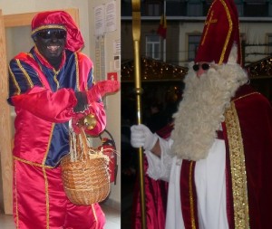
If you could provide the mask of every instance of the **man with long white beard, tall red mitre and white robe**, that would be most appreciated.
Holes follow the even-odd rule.
[[[131,127],[147,174],[169,182],[162,227],[271,228],[272,108],[241,67],[233,0],[212,2],[185,84],[169,140]]]

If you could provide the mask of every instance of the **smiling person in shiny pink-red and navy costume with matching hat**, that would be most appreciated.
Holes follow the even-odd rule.
[[[97,136],[106,125],[101,101],[118,81],[92,76],[92,61],[80,50],[83,36],[70,14],[50,11],[32,22],[34,47],[9,65],[8,102],[15,106],[14,217],[16,228],[103,228],[99,204],[73,205],[65,196],[60,160],[69,153],[68,122],[92,115],[85,129]]]

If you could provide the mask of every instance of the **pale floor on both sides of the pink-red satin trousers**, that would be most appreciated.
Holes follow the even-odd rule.
[[[110,205],[106,205],[106,204],[102,205],[102,209],[106,215],[106,220],[107,220],[104,229],[120,229],[121,228],[120,210],[116,210],[115,208],[112,208]],[[1,229],[15,229],[13,216],[0,214],[0,228]]]

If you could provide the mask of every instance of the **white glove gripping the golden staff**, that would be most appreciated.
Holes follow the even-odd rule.
[[[158,140],[158,135],[153,134],[145,125],[131,126],[131,146],[133,148],[143,147],[145,150],[151,150]]]

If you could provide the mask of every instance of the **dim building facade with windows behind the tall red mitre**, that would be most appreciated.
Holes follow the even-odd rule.
[[[141,0],[141,55],[186,67],[194,60],[212,0]],[[272,52],[272,1],[235,0],[244,64]],[[165,14],[166,39],[157,33]],[[133,59],[131,0],[121,1],[121,58]]]

